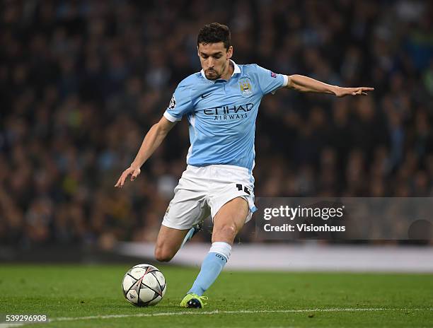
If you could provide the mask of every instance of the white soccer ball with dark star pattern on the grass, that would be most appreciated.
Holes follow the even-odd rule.
[[[156,305],[166,293],[167,284],[163,274],[155,266],[137,264],[123,277],[122,290],[132,305]]]

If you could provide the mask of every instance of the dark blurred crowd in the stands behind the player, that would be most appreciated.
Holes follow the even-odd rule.
[[[359,98],[289,90],[265,97],[256,197],[432,196],[431,1],[26,0],[2,7],[0,244],[110,248],[117,240],[156,240],[186,166],[186,120],[135,182],[114,185],[177,84],[200,71],[197,31],[214,21],[231,28],[238,64],[375,88]]]

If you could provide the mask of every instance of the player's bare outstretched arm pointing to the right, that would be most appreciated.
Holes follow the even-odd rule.
[[[345,95],[367,95],[368,91],[374,90],[374,88],[365,86],[356,88],[331,86],[330,84],[317,81],[314,78],[298,74],[287,76],[287,88],[301,92],[330,93],[337,97],[344,97]]]

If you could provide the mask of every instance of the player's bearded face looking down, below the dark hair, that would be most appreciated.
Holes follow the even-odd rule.
[[[197,47],[200,64],[204,75],[209,80],[217,80],[229,69],[229,59],[233,54],[233,47],[226,49],[223,42],[200,43]]]

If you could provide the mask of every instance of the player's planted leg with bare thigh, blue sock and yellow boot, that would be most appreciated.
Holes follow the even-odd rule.
[[[231,199],[214,216],[212,247],[204,258],[200,273],[180,306],[202,307],[203,293],[217,279],[231,254],[231,245],[243,227],[249,213],[248,202],[243,197]]]

